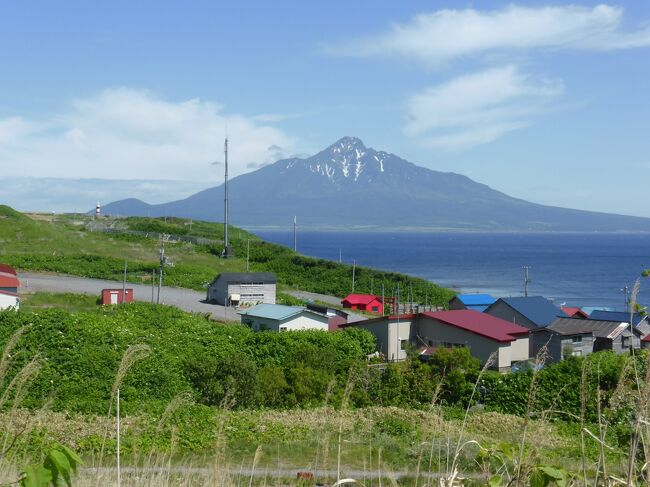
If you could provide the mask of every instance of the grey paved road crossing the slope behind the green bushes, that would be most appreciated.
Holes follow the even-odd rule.
[[[50,293],[75,293],[92,294],[99,296],[104,288],[122,288],[120,281],[104,281],[101,279],[89,279],[85,277],[67,276],[62,274],[41,274],[33,272],[20,272],[20,291],[36,292],[46,291]],[[127,283],[127,287],[133,289],[136,301],[151,302],[151,286],[144,284]],[[216,304],[202,302],[205,293],[181,289],[176,287],[163,287],[160,291],[160,302],[176,306],[184,311],[193,313],[207,313],[214,320],[218,321],[239,321],[239,315],[233,308],[225,308]]]

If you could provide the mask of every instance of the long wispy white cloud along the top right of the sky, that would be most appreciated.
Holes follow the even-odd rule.
[[[337,55],[400,56],[438,65],[492,52],[532,49],[613,50],[650,46],[650,27],[621,29],[621,7],[508,6],[501,10],[438,10],[384,33],[329,47]]]

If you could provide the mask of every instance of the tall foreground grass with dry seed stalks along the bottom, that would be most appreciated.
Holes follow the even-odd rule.
[[[118,485],[113,406],[106,416],[19,407],[42,360],[36,356],[13,377],[7,376],[23,333],[21,329],[11,337],[0,357],[0,483],[15,483],[25,465],[41,462],[49,445],[58,442],[85,458],[73,485]],[[149,350],[142,346],[127,350],[108,391],[112,397],[131,365],[146,353]],[[355,410],[348,407],[347,398],[366,385],[357,371],[348,377],[337,408],[326,394],[325,403],[315,409],[241,411],[233,409],[234,394],[227,396],[206,426],[212,444],[200,453],[188,454],[191,445],[183,444],[186,436],[180,434],[192,421],[179,419],[194,411],[188,409],[190,396],[175,398],[159,418],[123,418],[128,453],[123,456],[120,485],[252,487],[347,481],[375,487],[649,485],[650,364],[641,371],[634,359],[631,355],[623,368],[613,399],[620,401],[621,411],[615,413],[629,419],[626,443],[611,433],[611,412],[599,411],[595,424],[586,423],[584,415],[572,418],[571,431],[563,432],[565,423],[557,422],[562,411],[539,410],[536,380],[523,417],[484,412],[476,406],[455,411],[439,403],[440,387],[426,410],[380,406]],[[538,365],[543,360],[542,354]],[[587,360],[598,364],[599,355]],[[583,376],[587,370],[598,367],[585,365]],[[587,377],[582,379],[584,404],[589,391],[584,385]],[[633,407],[625,411],[630,404]],[[101,442],[93,443],[92,438]],[[309,475],[299,480],[299,471],[313,474],[314,480]]]

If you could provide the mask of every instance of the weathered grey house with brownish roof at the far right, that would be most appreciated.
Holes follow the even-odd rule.
[[[618,321],[558,318],[546,328],[531,330],[531,351],[535,355],[546,345],[548,362],[558,362],[570,355],[582,356],[601,350],[621,353],[630,346],[641,346],[641,333],[630,324]]]

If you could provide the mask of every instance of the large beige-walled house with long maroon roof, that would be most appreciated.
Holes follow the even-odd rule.
[[[492,367],[507,371],[529,358],[527,328],[475,310],[435,311],[385,316],[350,323],[370,331],[387,360],[403,360],[409,344],[433,353],[438,347],[468,347],[482,363],[495,354]]]

